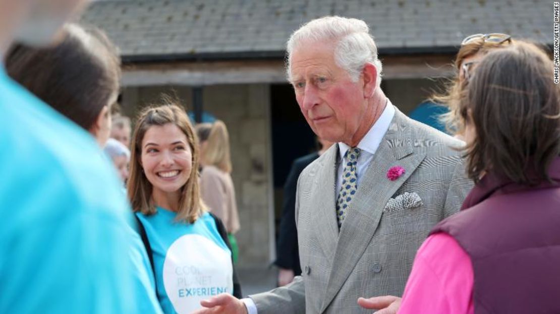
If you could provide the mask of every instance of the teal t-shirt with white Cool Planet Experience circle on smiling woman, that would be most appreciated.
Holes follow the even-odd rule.
[[[166,314],[190,313],[200,301],[233,293],[231,251],[214,218],[205,213],[195,223],[175,221],[175,213],[137,213],[152,249],[158,299]]]

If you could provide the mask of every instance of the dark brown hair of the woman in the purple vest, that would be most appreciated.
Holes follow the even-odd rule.
[[[461,101],[476,134],[466,147],[471,179],[487,171],[520,184],[549,179],[548,166],[560,152],[560,86],[553,68],[543,50],[521,41],[478,64]]]

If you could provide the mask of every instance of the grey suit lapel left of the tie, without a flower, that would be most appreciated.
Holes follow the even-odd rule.
[[[322,241],[321,248],[328,260],[333,260],[334,251],[338,242],[338,224],[335,205],[335,175],[338,157],[338,144],[333,145],[325,152],[315,178],[311,195],[312,208],[316,208],[313,228]],[[310,174],[312,175],[312,174]],[[314,205],[316,204],[316,205]]]

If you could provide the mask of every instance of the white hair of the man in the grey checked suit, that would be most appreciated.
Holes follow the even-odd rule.
[[[377,86],[381,83],[381,61],[377,58],[377,46],[366,22],[357,18],[325,16],[307,22],[290,36],[287,43],[286,74],[291,80],[291,55],[302,44],[333,41],[334,62],[348,72],[357,82],[367,64],[377,69]]]

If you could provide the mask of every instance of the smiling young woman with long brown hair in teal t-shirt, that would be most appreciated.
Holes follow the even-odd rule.
[[[241,296],[226,228],[200,197],[197,142],[175,104],[145,109],[132,137],[128,196],[165,313],[190,313],[218,293]]]

